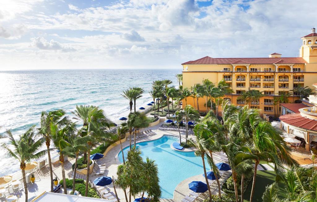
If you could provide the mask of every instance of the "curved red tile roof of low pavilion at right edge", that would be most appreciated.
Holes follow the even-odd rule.
[[[298,128],[317,131],[317,120],[303,117],[300,113],[282,115],[280,120]]]

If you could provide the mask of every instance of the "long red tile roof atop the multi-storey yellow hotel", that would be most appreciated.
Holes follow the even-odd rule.
[[[279,60],[287,61],[287,64],[305,64],[302,57],[251,57],[251,58],[212,58],[209,56],[194,61],[188,61],[183,64],[233,64],[238,61],[244,64],[274,64]]]

